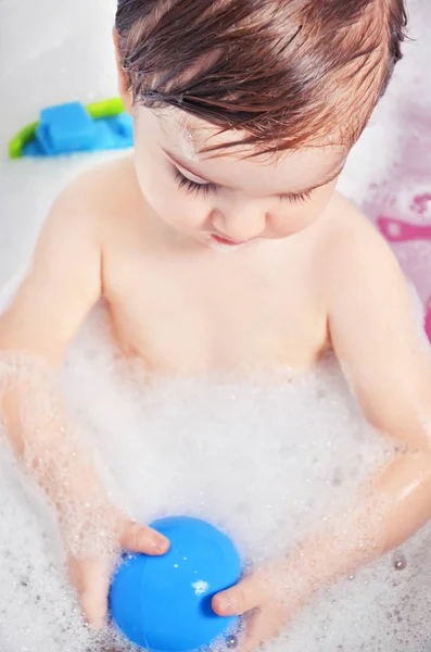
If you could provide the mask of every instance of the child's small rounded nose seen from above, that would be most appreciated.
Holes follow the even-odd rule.
[[[267,215],[262,206],[254,203],[241,203],[224,210],[214,209],[211,224],[226,238],[238,242],[246,242],[258,238],[265,231]]]

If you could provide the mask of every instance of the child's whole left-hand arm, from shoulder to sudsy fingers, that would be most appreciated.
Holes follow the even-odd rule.
[[[79,178],[56,201],[30,273],[0,318],[0,405],[12,448],[55,505],[72,581],[84,612],[99,625],[107,553],[122,546],[156,554],[167,546],[111,504],[56,381],[67,346],[101,292],[92,181],[91,174]],[[91,559],[97,552],[105,554]]]

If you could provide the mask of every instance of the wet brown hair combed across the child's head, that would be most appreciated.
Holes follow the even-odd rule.
[[[351,147],[406,24],[404,0],[118,0],[116,14],[136,103],[244,130],[261,152]]]

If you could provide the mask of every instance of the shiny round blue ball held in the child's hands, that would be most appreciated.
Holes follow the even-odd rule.
[[[170,541],[163,556],[127,554],[113,579],[113,620],[134,643],[154,652],[192,652],[230,632],[237,617],[217,616],[212,598],[237,584],[241,561],[230,539],[187,516],[151,527]]]

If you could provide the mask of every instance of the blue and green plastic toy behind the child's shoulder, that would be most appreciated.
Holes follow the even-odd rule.
[[[85,106],[71,102],[40,112],[38,123],[25,127],[9,143],[12,159],[58,156],[73,152],[124,149],[134,145],[134,123],[119,99]]]

